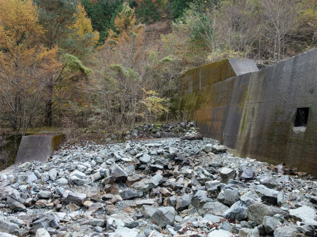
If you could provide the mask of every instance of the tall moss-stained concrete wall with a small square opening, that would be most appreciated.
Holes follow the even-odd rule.
[[[237,156],[285,162],[317,176],[317,49],[241,75],[235,72],[246,70],[227,65],[232,59],[223,61],[183,76],[188,81],[183,110],[198,121],[200,132]],[[203,75],[205,67],[221,73]],[[248,62],[246,69],[252,68]],[[294,127],[297,108],[303,107],[310,108],[307,125]]]

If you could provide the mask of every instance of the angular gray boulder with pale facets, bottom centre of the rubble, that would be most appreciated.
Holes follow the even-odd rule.
[[[160,207],[150,218],[151,222],[155,222],[160,227],[166,225],[173,226],[175,220],[175,209],[171,206]]]

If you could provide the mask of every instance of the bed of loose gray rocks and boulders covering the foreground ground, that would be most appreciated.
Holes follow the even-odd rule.
[[[0,237],[316,237],[315,180],[207,138],[65,142],[0,175]]]

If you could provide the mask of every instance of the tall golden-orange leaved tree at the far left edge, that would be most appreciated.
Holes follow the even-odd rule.
[[[42,36],[32,0],[0,0],[0,120],[15,138],[42,112],[47,84],[60,66],[57,48],[44,47]]]

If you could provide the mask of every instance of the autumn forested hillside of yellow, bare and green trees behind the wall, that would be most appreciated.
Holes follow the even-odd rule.
[[[317,0],[0,0],[2,133],[89,127],[108,137],[185,119],[177,76],[312,49],[316,10]]]

